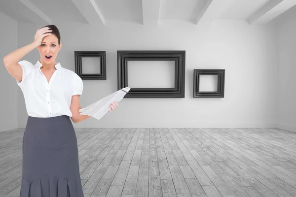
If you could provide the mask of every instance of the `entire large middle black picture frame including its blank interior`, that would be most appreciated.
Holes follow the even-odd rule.
[[[185,51],[117,51],[117,78],[125,98],[184,98]]]

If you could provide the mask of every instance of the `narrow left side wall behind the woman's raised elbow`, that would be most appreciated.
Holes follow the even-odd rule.
[[[0,131],[18,127],[17,85],[3,64],[3,58],[17,49],[17,22],[0,12]]]

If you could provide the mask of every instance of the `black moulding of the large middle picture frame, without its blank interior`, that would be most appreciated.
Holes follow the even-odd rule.
[[[174,88],[131,88],[124,98],[185,98],[185,51],[117,51],[117,87],[128,87],[128,61],[174,61]]]

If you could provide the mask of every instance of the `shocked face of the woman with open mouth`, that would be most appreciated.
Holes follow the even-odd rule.
[[[62,43],[58,43],[55,34],[43,37],[41,44],[37,47],[40,54],[40,62],[44,64],[55,64],[58,52],[61,50]]]

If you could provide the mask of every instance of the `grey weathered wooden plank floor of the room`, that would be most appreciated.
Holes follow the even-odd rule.
[[[85,197],[296,197],[296,132],[75,131]],[[23,132],[0,132],[0,197],[19,196]]]

